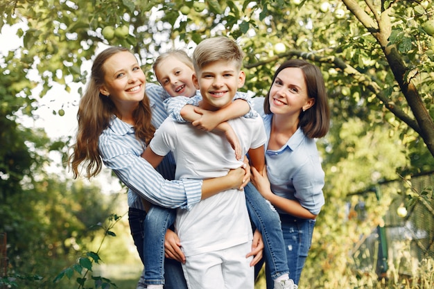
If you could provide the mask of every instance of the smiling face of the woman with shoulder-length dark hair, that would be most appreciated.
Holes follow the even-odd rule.
[[[297,117],[315,103],[314,98],[308,96],[304,73],[298,67],[288,67],[277,74],[268,100],[273,114]]]

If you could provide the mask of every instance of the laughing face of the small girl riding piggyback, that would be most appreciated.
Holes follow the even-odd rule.
[[[158,82],[170,96],[195,96],[193,73],[192,67],[187,66],[175,56],[168,56],[155,67]]]

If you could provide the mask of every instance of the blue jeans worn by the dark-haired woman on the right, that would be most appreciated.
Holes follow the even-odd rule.
[[[286,258],[288,259],[288,268],[290,279],[298,285],[300,275],[306,261],[307,254],[311,248],[313,227],[315,220],[295,218],[288,214],[280,214],[281,229],[284,232],[286,245]],[[267,289],[273,288],[270,272],[266,265]]]

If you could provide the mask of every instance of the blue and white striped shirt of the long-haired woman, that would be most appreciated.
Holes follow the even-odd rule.
[[[150,100],[152,123],[155,128],[166,119],[164,99],[170,97],[164,89],[152,83],[146,84],[146,95]],[[128,205],[144,209],[142,197],[162,207],[190,209],[202,198],[202,180],[173,179],[175,160],[168,155],[157,167],[151,166],[141,157],[146,144],[136,139],[134,128],[116,116],[98,140],[98,149],[107,168],[128,186]],[[161,173],[161,175],[160,175]],[[165,179],[166,178],[166,179]]]

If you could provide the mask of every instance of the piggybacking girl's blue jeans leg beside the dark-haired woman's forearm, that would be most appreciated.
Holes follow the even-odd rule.
[[[245,186],[244,193],[250,220],[262,234],[266,266],[270,270],[272,280],[282,274],[288,274],[288,263],[286,261],[285,243],[279,214],[270,202],[267,202],[262,197],[252,183]]]

